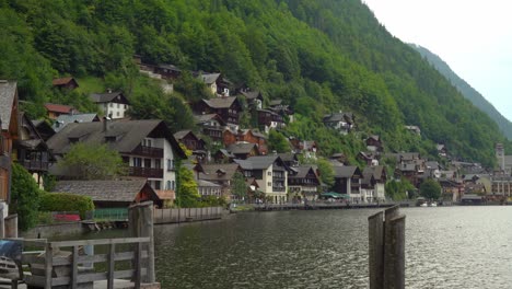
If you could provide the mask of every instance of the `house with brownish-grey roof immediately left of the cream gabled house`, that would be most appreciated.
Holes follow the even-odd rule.
[[[203,164],[200,172],[197,172],[197,180],[208,181],[220,185],[222,196],[231,199],[231,182],[236,172],[242,173],[242,169],[236,163],[225,164]]]

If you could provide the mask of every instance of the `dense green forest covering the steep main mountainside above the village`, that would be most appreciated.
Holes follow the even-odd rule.
[[[282,99],[298,122],[284,135],[314,139],[322,153],[363,149],[380,135],[387,151],[452,155],[492,166],[504,142],[497,124],[393,37],[360,0],[0,0],[0,78],[16,79],[32,117],[43,103],[94,109],[86,94],[123,90],[132,115],[164,118],[173,129],[191,122],[183,106],[207,94],[185,73],[177,93],[162,95],[132,61],[222,72],[235,86]],[[51,79],[73,76],[81,90],[61,93]],[[330,112],[352,112],[358,132],[325,128]],[[251,120],[245,122],[249,124]],[[421,137],[405,125],[421,128]]]

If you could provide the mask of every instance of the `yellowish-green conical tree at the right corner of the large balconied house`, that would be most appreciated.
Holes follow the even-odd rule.
[[[194,208],[199,206],[199,192],[194,180],[193,171],[185,166],[178,169],[178,184],[176,189],[176,206],[181,208]]]

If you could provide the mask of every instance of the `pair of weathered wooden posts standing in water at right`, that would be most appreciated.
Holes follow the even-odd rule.
[[[370,216],[368,221],[370,288],[404,289],[405,216],[394,206]]]

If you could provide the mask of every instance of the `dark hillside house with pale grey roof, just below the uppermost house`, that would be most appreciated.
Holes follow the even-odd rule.
[[[242,106],[235,96],[201,100],[193,104],[194,113],[198,115],[218,114],[233,130],[238,129],[238,118]]]

